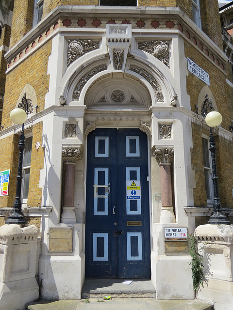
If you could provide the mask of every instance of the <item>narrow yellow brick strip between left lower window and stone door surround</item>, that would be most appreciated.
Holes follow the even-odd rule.
[[[27,205],[30,207],[40,207],[42,188],[39,187],[40,170],[44,167],[44,151],[42,145],[43,123],[33,124],[33,144],[30,170],[30,183]],[[40,147],[36,150],[36,142],[40,142]]]

